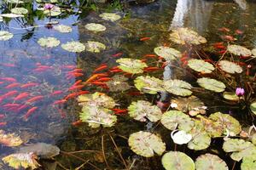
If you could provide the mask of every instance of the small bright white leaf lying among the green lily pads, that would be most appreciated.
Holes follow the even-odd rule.
[[[192,135],[189,133],[186,133],[183,130],[177,131],[174,130],[171,133],[171,138],[175,144],[188,144],[189,141],[192,139]]]

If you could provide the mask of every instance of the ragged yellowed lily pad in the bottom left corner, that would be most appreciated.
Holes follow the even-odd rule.
[[[15,169],[23,168],[32,168],[36,169],[40,165],[38,161],[36,161],[37,156],[31,153],[18,153],[18,154],[11,154],[9,156],[3,157],[4,163],[9,163],[9,167],[14,167]]]

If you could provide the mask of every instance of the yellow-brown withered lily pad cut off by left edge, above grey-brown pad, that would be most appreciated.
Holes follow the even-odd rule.
[[[5,133],[3,130],[0,130],[0,144],[14,147],[22,144],[23,141],[15,133]]]

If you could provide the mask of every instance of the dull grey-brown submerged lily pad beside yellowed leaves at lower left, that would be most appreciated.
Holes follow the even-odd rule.
[[[60,154],[60,149],[52,144],[37,143],[20,148],[19,153],[34,153],[40,158],[49,159]]]

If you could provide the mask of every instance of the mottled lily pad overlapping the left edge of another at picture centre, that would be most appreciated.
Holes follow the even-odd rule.
[[[139,91],[146,94],[157,94],[166,91],[163,88],[163,81],[155,77],[137,77],[134,80],[134,85]]]

